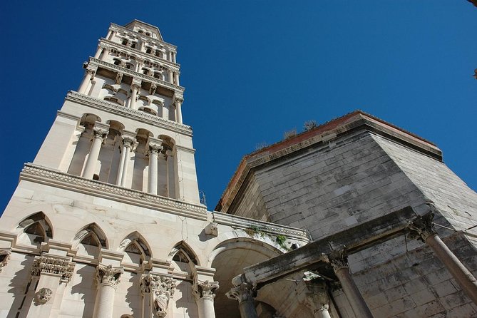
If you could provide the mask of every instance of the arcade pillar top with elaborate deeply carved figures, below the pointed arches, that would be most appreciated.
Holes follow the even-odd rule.
[[[141,292],[148,312],[144,317],[165,317],[168,314],[170,299],[173,298],[177,282],[172,275],[150,272],[140,282]],[[148,297],[148,299],[147,299]]]

